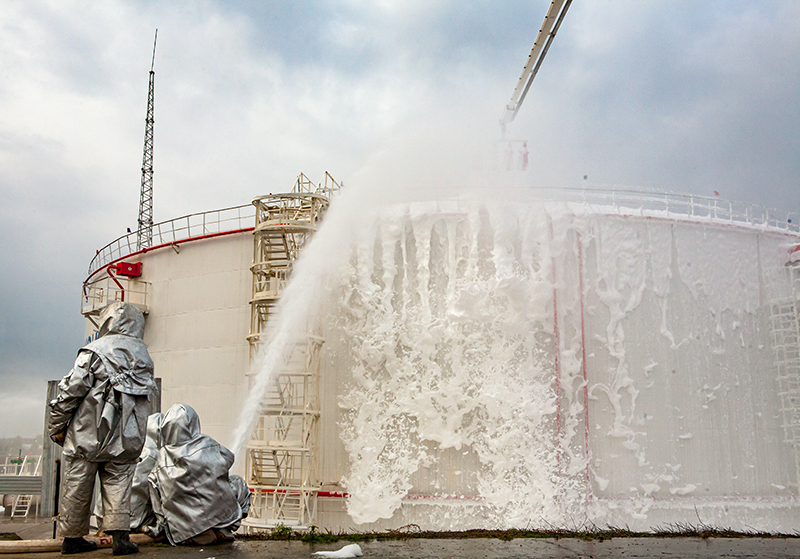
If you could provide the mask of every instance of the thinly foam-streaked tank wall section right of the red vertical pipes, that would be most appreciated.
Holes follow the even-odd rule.
[[[793,499],[759,258],[782,243],[615,219],[593,232],[583,248],[594,494]]]

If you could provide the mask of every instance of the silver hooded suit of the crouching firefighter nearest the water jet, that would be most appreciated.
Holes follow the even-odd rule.
[[[233,459],[230,450],[200,433],[200,418],[190,406],[175,404],[164,414],[150,498],[172,545],[212,528],[238,527],[242,508],[228,477]]]

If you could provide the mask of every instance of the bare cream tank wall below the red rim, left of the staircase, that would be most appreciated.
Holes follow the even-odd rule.
[[[149,282],[144,340],[162,378],[162,410],[181,402],[203,433],[232,444],[249,366],[251,233],[162,248],[142,256]]]

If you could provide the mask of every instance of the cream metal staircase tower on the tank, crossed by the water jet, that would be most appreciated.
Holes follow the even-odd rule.
[[[339,185],[327,173],[320,185],[300,175],[292,192],[256,198],[253,297],[250,301],[251,366],[269,339],[269,318],[295,260],[316,231]],[[261,402],[246,446],[247,483],[253,489],[248,530],[314,523],[319,419],[319,359],[323,340],[309,333],[289,349],[286,364]]]

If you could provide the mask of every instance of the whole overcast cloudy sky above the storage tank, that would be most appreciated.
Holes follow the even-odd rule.
[[[0,437],[42,432],[89,261],[135,228],[155,28],[163,221],[347,182],[409,127],[499,135],[548,4],[0,0]],[[509,135],[535,184],[800,211],[800,2],[576,0]]]

